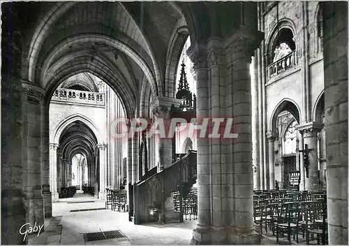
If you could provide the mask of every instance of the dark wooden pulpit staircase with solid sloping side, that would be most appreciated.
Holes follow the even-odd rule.
[[[130,197],[129,220],[135,224],[149,222],[183,222],[183,214],[174,210],[173,193],[185,198],[196,182],[196,151],[179,154],[177,161],[163,168],[149,170],[144,180],[128,184]]]

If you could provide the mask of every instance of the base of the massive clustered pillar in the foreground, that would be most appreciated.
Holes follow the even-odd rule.
[[[191,245],[259,245],[260,235],[251,230],[237,230],[231,226],[209,226],[193,230]]]

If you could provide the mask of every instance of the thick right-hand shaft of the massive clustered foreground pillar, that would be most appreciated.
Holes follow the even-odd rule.
[[[248,33],[248,34],[247,34]],[[226,223],[228,244],[259,244],[260,238],[253,228],[253,168],[251,137],[251,78],[249,66],[254,50],[262,40],[259,32],[242,28],[228,39],[228,93],[227,114],[234,115],[234,132],[238,137],[228,149],[234,154],[227,158],[232,164],[232,200],[228,200],[223,217],[230,217]],[[228,85],[229,85],[228,84]],[[231,88],[231,89],[230,89]],[[232,103],[229,99],[232,98]],[[231,111],[228,111],[232,108]],[[231,165],[230,164],[230,165]],[[230,169],[227,170],[228,172]],[[227,177],[228,178],[228,177]],[[224,204],[224,203],[223,203]]]

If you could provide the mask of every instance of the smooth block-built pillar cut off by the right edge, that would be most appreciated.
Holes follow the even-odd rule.
[[[329,245],[348,245],[348,2],[320,2],[320,8]]]

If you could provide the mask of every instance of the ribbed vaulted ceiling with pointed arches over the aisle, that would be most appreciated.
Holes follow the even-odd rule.
[[[67,78],[89,72],[114,89],[130,114],[149,89],[154,96],[174,96],[186,37],[200,43],[231,35],[241,11],[246,20],[256,13],[254,3],[244,4],[68,1],[10,8],[20,30],[15,42],[23,47],[22,78],[44,89],[45,101]]]

